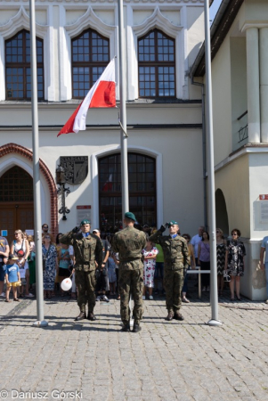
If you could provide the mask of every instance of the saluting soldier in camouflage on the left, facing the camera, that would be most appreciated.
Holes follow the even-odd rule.
[[[69,233],[61,236],[61,243],[72,245],[76,258],[77,304],[80,314],[75,321],[85,319],[85,305],[88,304],[88,320],[96,320],[93,315],[95,306],[95,268],[96,263],[102,266],[102,242],[96,235],[90,233],[90,221],[81,221],[81,232],[75,227]]]

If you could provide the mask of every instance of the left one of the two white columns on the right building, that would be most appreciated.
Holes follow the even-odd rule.
[[[261,142],[258,29],[247,29],[248,143]]]

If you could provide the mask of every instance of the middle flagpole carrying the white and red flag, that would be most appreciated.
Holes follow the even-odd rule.
[[[124,220],[125,213],[129,211],[127,136],[126,136],[126,69],[125,69],[126,54],[125,54],[123,12],[124,12],[123,0],[118,0],[122,222]]]

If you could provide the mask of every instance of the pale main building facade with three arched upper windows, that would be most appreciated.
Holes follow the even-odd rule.
[[[124,2],[129,208],[140,224],[175,218],[191,234],[204,223],[201,92],[188,76],[204,40],[203,6]],[[28,12],[23,0],[0,1],[0,228],[10,240],[14,229],[34,228],[33,194],[22,185],[33,176]],[[42,222],[64,233],[86,216],[112,232],[121,225],[119,109],[91,109],[85,131],[57,134],[118,60],[117,2],[37,0],[36,21]]]

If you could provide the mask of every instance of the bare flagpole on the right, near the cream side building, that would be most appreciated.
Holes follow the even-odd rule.
[[[209,4],[205,0],[205,56],[206,56],[206,102],[207,102],[207,178],[208,178],[208,202],[209,202],[209,228],[210,228],[210,302],[211,320],[210,326],[220,326],[218,319],[218,294],[217,294],[217,258],[215,237],[215,172],[214,172],[214,138],[213,138],[213,110],[211,89],[211,48],[210,48],[210,24]]]

